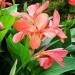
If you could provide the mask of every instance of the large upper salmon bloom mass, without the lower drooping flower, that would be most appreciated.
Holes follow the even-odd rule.
[[[52,26],[50,26],[51,23],[49,24],[49,16],[46,13],[41,13],[48,7],[48,4],[49,1],[46,1],[40,7],[38,3],[30,5],[28,7],[29,14],[13,13],[15,16],[22,17],[14,23],[14,28],[19,31],[13,37],[14,43],[18,43],[24,38],[24,35],[28,35],[30,38],[30,47],[34,50],[40,46],[41,40],[45,40],[48,37],[53,38],[57,35],[62,41],[66,38],[65,34],[59,28],[60,16],[58,12],[54,12]],[[40,13],[37,14],[37,11]]]

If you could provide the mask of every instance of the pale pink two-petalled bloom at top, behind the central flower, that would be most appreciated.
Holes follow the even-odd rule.
[[[30,5],[27,10],[28,10],[29,15],[33,17],[35,15],[40,14],[43,10],[48,8],[48,5],[49,5],[49,1],[46,1],[41,6],[39,5],[39,3],[36,3],[34,5]]]

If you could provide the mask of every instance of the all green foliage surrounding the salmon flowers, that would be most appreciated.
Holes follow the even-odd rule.
[[[73,71],[75,70],[75,6],[69,5],[67,0],[50,0],[49,8],[46,12],[51,15],[50,19],[52,19],[53,11],[55,9],[59,11],[62,30],[67,35],[67,38],[64,43],[60,41],[59,37],[48,38],[42,41],[41,46],[35,52],[32,52],[28,36],[25,36],[19,43],[12,41],[13,35],[17,31],[13,28],[16,17],[12,16],[11,13],[18,10],[27,12],[28,5],[37,2],[42,4],[45,0],[22,0],[19,3],[21,7],[19,6],[18,9],[18,4],[15,4],[17,0],[12,0],[12,2],[12,6],[0,10],[0,22],[4,25],[4,29],[0,30],[0,65],[2,65],[0,74],[4,75],[3,72],[5,72],[6,67],[8,67],[6,70],[8,72],[5,72],[5,75],[8,75],[8,73],[9,75],[65,75],[65,72],[70,72],[71,75],[75,74],[75,71]],[[53,65],[48,69],[40,67],[39,62],[34,59],[34,54],[46,45],[48,45],[48,50],[53,48],[65,48],[68,50],[67,57],[63,58],[63,67],[56,62],[53,62]]]

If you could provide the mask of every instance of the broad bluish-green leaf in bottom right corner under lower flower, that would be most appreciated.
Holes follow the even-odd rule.
[[[60,75],[64,72],[75,70],[75,58],[66,57],[64,58],[64,66],[61,67],[57,63],[53,63],[53,66],[47,70],[42,71],[37,75]]]

